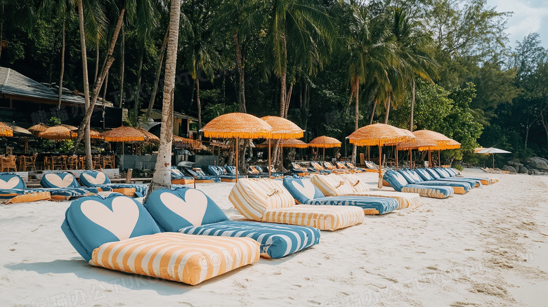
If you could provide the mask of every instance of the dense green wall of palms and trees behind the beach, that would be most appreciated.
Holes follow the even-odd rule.
[[[84,92],[81,19],[90,103],[126,107],[136,125],[162,109],[170,6],[0,0],[0,65]],[[478,144],[548,153],[547,51],[537,34],[510,48],[509,13],[485,0],[190,0],[180,11],[174,110],[198,126],[225,112],[279,115],[305,141],[342,141],[383,122],[455,138],[462,150],[446,159],[477,162]]]

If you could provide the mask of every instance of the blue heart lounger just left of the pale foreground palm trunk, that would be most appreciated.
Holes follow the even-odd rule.
[[[133,183],[112,183],[110,178],[102,171],[83,171],[80,175],[80,183],[89,188],[100,188],[106,192],[118,192],[129,197],[144,197],[148,187]]]

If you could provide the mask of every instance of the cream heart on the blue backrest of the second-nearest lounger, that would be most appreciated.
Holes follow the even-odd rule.
[[[202,225],[205,211],[207,210],[207,197],[198,190],[188,190],[185,199],[170,192],[160,195],[160,200],[167,209],[189,221],[193,226]]]

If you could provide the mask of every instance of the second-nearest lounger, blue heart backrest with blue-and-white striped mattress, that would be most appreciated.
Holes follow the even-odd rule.
[[[230,221],[204,192],[190,188],[161,189],[145,203],[160,228],[188,235],[251,237],[261,244],[261,256],[282,258],[320,242],[320,230],[250,221]]]

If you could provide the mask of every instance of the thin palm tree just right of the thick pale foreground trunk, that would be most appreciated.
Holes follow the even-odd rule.
[[[196,84],[196,102],[198,107],[198,128],[202,129],[202,103],[200,102],[200,79],[214,79],[214,70],[221,66],[215,41],[212,39],[214,13],[211,1],[190,2],[190,13],[183,14],[183,48],[190,51],[186,64],[190,77]],[[202,75],[203,74],[203,75]]]

